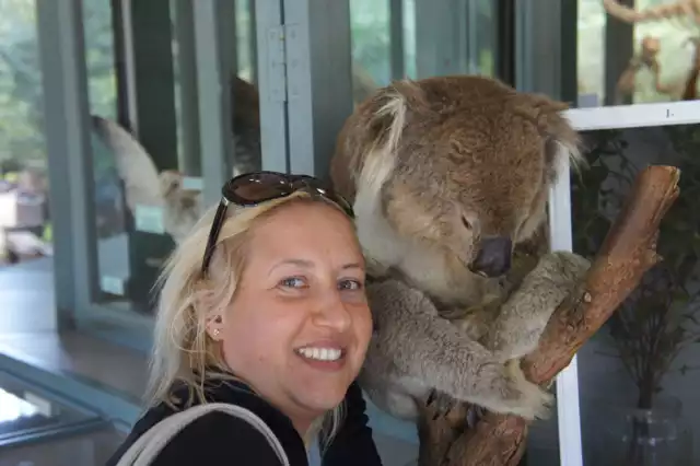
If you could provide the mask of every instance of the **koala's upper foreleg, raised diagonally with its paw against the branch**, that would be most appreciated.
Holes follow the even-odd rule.
[[[483,343],[499,361],[522,358],[537,348],[559,304],[581,286],[591,263],[569,252],[544,255],[501,307]]]

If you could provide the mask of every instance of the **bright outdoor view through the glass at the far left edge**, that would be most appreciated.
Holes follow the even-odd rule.
[[[51,255],[34,1],[0,0],[0,267]]]

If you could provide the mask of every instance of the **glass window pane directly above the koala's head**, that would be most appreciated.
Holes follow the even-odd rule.
[[[493,75],[494,11],[489,0],[351,1],[355,101],[392,79]]]

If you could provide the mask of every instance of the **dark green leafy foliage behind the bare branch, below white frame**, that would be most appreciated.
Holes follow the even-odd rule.
[[[679,155],[680,196],[660,225],[657,252],[663,261],[645,273],[607,324],[617,356],[640,391],[642,408],[651,407],[678,354],[700,335],[700,211],[693,206],[700,195],[700,161],[691,156],[700,150],[700,128],[657,129]],[[572,184],[574,251],[580,254],[595,255],[634,183],[640,167],[627,156],[627,149],[622,131],[595,132],[595,145],[587,153],[591,170]]]

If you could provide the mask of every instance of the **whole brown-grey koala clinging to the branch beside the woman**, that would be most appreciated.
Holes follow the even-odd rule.
[[[514,255],[546,226],[562,158],[581,165],[565,108],[489,78],[436,77],[378,90],[341,128],[330,178],[366,257],[375,327],[360,383],[381,409],[416,420],[438,393],[547,415],[552,396],[520,358],[588,263],[541,241],[529,266]]]

